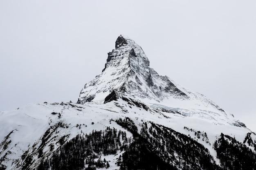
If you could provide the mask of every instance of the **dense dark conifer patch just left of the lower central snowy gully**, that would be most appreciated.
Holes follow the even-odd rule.
[[[121,145],[120,138],[126,139],[126,133],[119,131],[117,135],[115,128],[93,130],[85,137],[77,135],[56,150],[51,159],[43,161],[38,170],[48,170],[50,167],[52,170],[81,170],[85,163],[89,164],[87,169],[109,167],[109,164],[101,159],[94,159],[99,158],[101,154],[114,155],[117,150],[122,150],[124,146]]]

